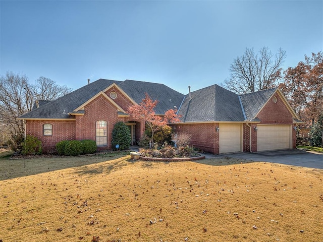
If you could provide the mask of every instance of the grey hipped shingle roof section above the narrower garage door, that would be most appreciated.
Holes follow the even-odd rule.
[[[178,112],[181,122],[243,121],[239,96],[218,85],[191,92]]]

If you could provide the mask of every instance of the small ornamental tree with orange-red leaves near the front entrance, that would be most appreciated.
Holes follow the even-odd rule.
[[[140,104],[132,105],[128,108],[128,113],[135,119],[144,119],[146,125],[151,129],[151,143],[153,143],[153,135],[161,127],[169,123],[179,122],[179,116],[176,109],[169,109],[164,115],[156,115],[154,108],[158,101],[152,101],[147,93]]]

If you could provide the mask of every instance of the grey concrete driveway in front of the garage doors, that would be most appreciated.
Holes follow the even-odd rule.
[[[267,161],[285,165],[296,165],[302,167],[323,169],[322,153],[309,152],[299,149],[262,151],[256,153],[230,153],[221,155],[252,161]]]

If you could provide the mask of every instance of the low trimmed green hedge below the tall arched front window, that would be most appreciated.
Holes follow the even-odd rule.
[[[63,140],[56,144],[59,155],[76,156],[96,152],[96,143],[93,140]]]

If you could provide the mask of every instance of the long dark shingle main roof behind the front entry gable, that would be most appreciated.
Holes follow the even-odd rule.
[[[99,79],[56,100],[42,102],[39,108],[33,108],[31,112],[20,116],[20,118],[70,118],[69,112],[72,112],[113,83],[117,84],[137,103],[141,102],[145,97],[145,92],[147,92],[151,99],[159,101],[155,108],[157,114],[164,114],[165,111],[174,108],[174,106],[179,107],[184,97],[183,94],[164,84]]]

